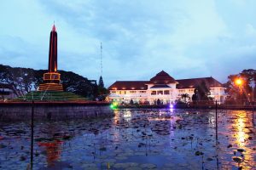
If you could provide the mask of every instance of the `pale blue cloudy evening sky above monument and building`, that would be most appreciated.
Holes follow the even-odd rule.
[[[215,77],[256,69],[254,0],[2,0],[0,64],[47,69],[55,20],[58,66],[98,80]]]

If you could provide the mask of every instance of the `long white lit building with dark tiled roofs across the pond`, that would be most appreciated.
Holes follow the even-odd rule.
[[[209,97],[223,103],[225,99],[224,86],[212,77],[175,80],[165,71],[160,71],[149,81],[117,81],[109,88],[108,99],[119,103],[144,103],[154,105],[157,100],[162,104],[174,103],[182,94],[189,94],[190,99],[195,87],[206,82],[210,89]]]

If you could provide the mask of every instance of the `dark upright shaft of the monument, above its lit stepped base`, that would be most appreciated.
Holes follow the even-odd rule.
[[[58,68],[57,65],[57,32],[54,26],[52,26],[52,30],[50,31],[49,36],[49,64],[48,71],[56,72]]]

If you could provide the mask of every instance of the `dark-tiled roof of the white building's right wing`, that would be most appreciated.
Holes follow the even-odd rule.
[[[207,88],[223,87],[222,83],[212,77],[190,78],[176,81],[178,82],[177,88],[195,88],[196,86],[200,86],[203,81],[206,82]]]

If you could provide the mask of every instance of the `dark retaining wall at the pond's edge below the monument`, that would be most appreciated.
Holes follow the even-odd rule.
[[[30,120],[32,105],[0,106],[0,121]],[[69,120],[111,117],[113,111],[109,105],[35,105],[35,120]]]

